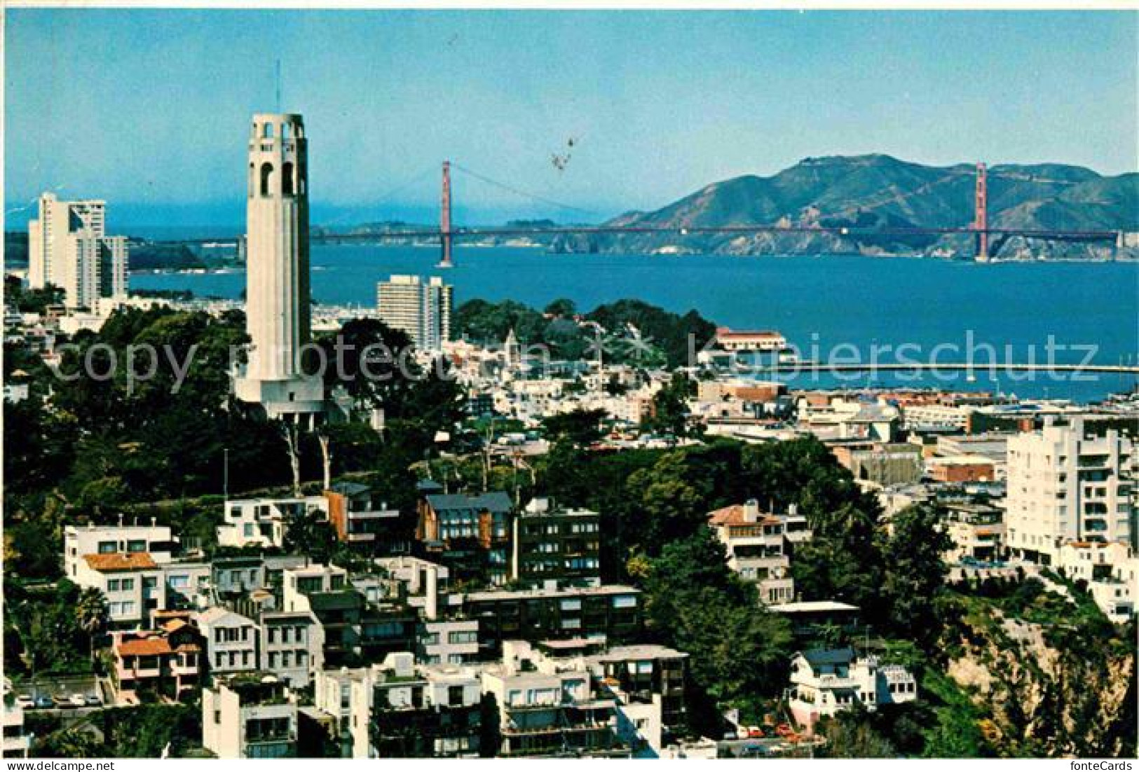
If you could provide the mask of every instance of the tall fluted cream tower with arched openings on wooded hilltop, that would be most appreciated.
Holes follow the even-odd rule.
[[[311,340],[308,140],[300,115],[253,116],[246,199],[246,329],[249,361],[237,397],[271,418],[323,410],[323,385],[304,376]]]

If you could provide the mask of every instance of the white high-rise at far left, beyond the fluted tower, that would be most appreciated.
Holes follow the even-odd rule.
[[[39,217],[27,223],[28,286],[59,287],[71,309],[126,297],[126,237],[106,235],[106,213],[105,202],[40,196]]]

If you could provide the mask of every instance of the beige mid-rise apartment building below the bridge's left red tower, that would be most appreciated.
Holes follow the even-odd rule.
[[[416,348],[441,351],[451,339],[453,287],[439,277],[393,276],[376,285],[376,306],[388,327],[411,337]]]

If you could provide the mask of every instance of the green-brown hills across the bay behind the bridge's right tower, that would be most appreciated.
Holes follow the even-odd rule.
[[[655,212],[630,212],[614,225],[680,228],[732,224],[962,227],[973,222],[975,167],[923,166],[886,155],[804,158],[772,176],[714,182]],[[1101,176],[1063,164],[992,166],[989,222],[993,228],[1139,230],[1139,174]],[[562,252],[724,254],[928,254],[972,256],[969,236],[841,238],[829,233],[567,236]],[[1105,256],[1083,244],[992,245],[1001,257]]]

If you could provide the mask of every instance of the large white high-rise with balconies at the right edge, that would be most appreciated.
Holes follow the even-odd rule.
[[[1009,438],[1013,555],[1055,565],[1068,542],[1131,543],[1133,450],[1116,429],[1091,434],[1081,417]]]

